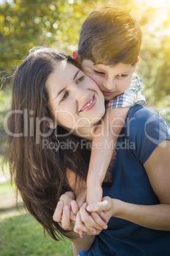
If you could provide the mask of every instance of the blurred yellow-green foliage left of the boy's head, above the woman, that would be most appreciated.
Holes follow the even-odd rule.
[[[91,1],[70,3],[16,0],[15,4],[1,5],[0,70],[15,69],[33,46],[52,45],[70,52],[77,48],[81,23]]]

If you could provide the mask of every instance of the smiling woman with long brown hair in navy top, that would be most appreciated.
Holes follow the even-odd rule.
[[[67,230],[72,229],[67,204],[71,204],[74,213],[78,210],[70,192],[68,199],[68,191],[85,201],[79,195],[86,187],[88,155],[86,158],[86,145],[82,150],[84,139],[93,138],[96,122],[105,113],[103,95],[77,65],[68,55],[42,49],[32,52],[15,73],[12,110],[18,112],[11,115],[8,127],[18,137],[9,138],[8,159],[25,208],[52,238],[58,237],[58,231],[74,239],[75,253],[91,247],[89,255],[160,255],[163,246],[161,253],[167,255],[170,136],[159,115],[143,106],[129,110],[117,140],[112,183],[103,184],[103,195],[113,199],[107,197],[108,205],[102,204],[97,210],[108,210],[107,218],[114,217],[108,222],[108,229],[96,236],[94,243],[94,236],[82,239]],[[54,219],[62,221],[66,230],[53,220],[62,194],[65,206],[62,201],[58,203],[58,217]],[[95,234],[96,229],[100,232],[100,226],[106,228],[105,222],[96,222],[83,204],[74,231]]]

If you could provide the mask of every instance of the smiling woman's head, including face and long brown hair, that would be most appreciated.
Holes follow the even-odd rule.
[[[53,220],[53,213],[60,196],[86,180],[86,140],[92,138],[96,122],[105,113],[104,99],[69,55],[49,48],[32,51],[13,78],[6,159],[25,208],[53,239],[58,239],[56,231],[71,238],[72,233]],[[60,80],[50,78],[55,69],[64,74]],[[68,81],[71,89],[65,92]],[[74,97],[65,108],[70,91]],[[85,106],[89,101],[91,106]],[[76,182],[70,187],[73,174]]]

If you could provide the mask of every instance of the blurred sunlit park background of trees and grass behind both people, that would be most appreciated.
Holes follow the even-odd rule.
[[[136,73],[143,80],[143,94],[170,124],[170,1],[41,1],[0,0],[0,75],[11,76],[33,46],[53,46],[72,55],[77,49],[83,20],[94,4],[126,5],[141,25],[143,39]],[[0,162],[6,146],[3,118],[10,110],[10,79],[0,85]],[[170,125],[169,125],[170,126]],[[23,209],[19,211],[8,181],[0,166],[0,254],[73,255],[69,241],[55,242]]]

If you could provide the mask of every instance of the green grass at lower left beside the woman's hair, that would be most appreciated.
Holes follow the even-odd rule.
[[[39,223],[25,212],[22,201],[18,211],[15,204],[10,204],[12,190],[9,183],[0,184],[0,195],[5,207],[0,206],[0,254],[72,256],[72,244],[69,240],[54,241],[44,232]],[[10,197],[10,199],[9,199]],[[2,201],[1,201],[2,202]]]

